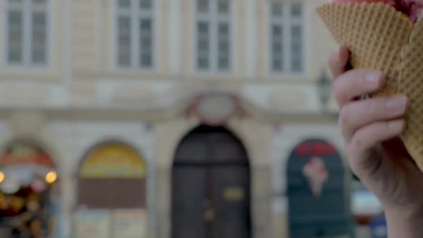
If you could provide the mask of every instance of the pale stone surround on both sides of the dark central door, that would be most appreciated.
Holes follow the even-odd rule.
[[[157,154],[156,203],[157,226],[155,237],[172,237],[172,170],[175,151],[180,141],[200,125],[199,118],[178,118],[155,126]],[[271,235],[271,139],[273,128],[254,120],[232,118],[226,125],[242,140],[248,152],[251,180],[252,237]]]

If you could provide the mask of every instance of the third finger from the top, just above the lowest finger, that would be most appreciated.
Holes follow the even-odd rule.
[[[349,142],[360,127],[376,121],[392,120],[404,116],[409,101],[405,95],[379,97],[346,104],[340,112],[342,134]]]

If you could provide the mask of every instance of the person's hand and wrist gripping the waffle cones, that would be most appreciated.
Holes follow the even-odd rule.
[[[423,237],[423,173],[399,139],[408,98],[362,97],[383,88],[386,78],[375,70],[348,68],[346,47],[334,49],[328,61],[351,170],[381,201],[390,238]]]

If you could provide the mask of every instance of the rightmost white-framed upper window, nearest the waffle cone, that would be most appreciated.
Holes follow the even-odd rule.
[[[303,4],[299,1],[273,0],[270,15],[271,70],[303,72]]]

